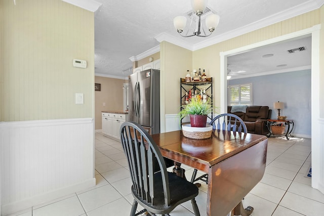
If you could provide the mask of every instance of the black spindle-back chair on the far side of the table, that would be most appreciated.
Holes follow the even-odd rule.
[[[244,123],[244,121],[238,117],[235,114],[232,113],[223,113],[220,115],[217,115],[215,118],[211,120],[209,123],[213,126],[213,129],[217,131],[233,131],[234,133],[248,133],[247,125]],[[208,184],[208,174],[204,174],[202,176],[199,176],[196,178],[197,175],[197,169],[193,170],[193,174],[191,177],[191,182],[194,183],[198,180],[201,180]],[[197,187],[200,187],[200,183],[195,184]]]

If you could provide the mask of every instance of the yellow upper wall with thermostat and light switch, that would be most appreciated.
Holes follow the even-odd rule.
[[[94,13],[60,0],[2,0],[1,9],[0,121],[93,117]]]

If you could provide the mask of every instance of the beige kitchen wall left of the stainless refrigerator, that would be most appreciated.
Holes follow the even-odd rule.
[[[101,91],[95,91],[95,129],[101,129],[101,111],[123,110],[123,83],[125,79],[95,76],[95,83],[101,84]],[[106,106],[103,106],[106,103]]]

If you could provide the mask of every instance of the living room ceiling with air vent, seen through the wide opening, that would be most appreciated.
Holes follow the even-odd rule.
[[[299,51],[298,48],[301,47],[305,50]],[[289,50],[294,51],[288,52]],[[232,79],[310,68],[310,36],[281,41],[227,58],[227,72]]]

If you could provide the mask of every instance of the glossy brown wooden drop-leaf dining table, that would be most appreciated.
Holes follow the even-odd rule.
[[[181,131],[151,136],[164,157],[208,173],[208,216],[225,216],[233,209],[234,215],[251,213],[241,200],[263,177],[266,136],[229,131],[213,131],[203,140],[186,138]]]

